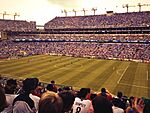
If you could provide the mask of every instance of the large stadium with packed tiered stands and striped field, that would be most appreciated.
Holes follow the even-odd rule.
[[[43,86],[106,88],[150,98],[150,11],[0,19],[0,81],[38,78]]]

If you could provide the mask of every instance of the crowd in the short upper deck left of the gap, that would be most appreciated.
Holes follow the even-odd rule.
[[[36,31],[36,23],[33,21],[0,19],[0,31]]]

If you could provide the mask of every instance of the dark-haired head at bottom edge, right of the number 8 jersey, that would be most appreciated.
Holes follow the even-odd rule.
[[[103,96],[97,96],[92,101],[94,113],[113,113],[110,101]]]

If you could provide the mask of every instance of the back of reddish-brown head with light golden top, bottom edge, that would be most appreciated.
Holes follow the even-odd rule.
[[[62,113],[63,101],[57,93],[47,91],[39,101],[38,113]]]

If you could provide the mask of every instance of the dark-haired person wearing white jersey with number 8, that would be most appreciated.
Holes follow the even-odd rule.
[[[88,93],[88,88],[81,88],[78,97],[75,98],[72,113],[94,113],[92,102],[86,99]]]

